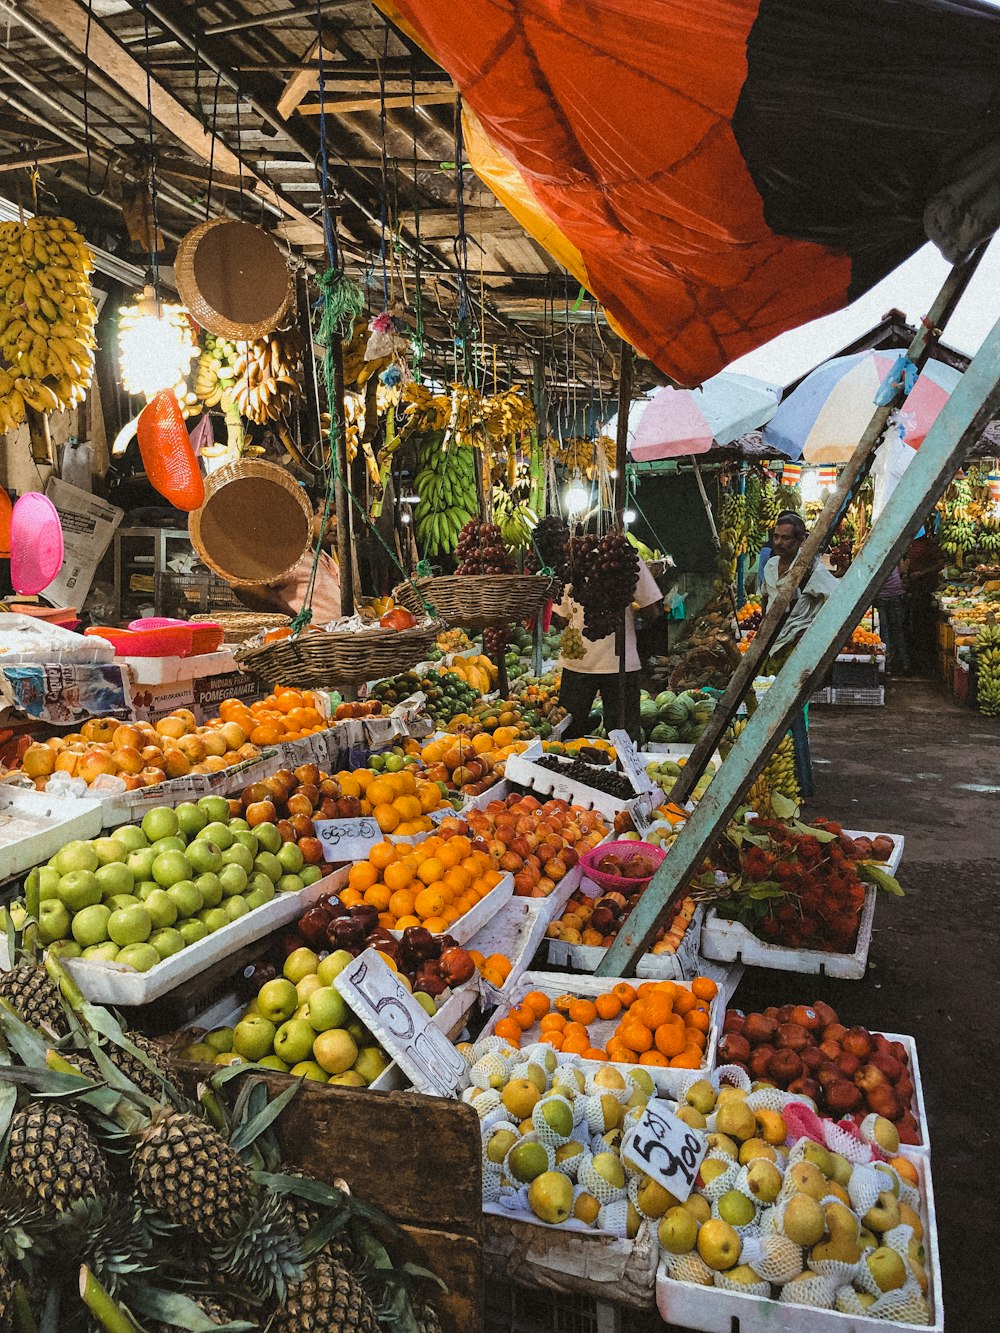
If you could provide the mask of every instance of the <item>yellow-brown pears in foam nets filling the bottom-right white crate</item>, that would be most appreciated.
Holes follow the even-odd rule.
[[[781,1305],[929,1324],[916,1162],[885,1160],[873,1140],[856,1141],[851,1158],[811,1137],[785,1146],[781,1113],[756,1097],[729,1085],[716,1093],[707,1080],[687,1090],[688,1122],[715,1129],[687,1201],[656,1196],[668,1276]]]

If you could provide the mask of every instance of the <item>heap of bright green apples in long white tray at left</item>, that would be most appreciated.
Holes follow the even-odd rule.
[[[309,846],[283,841],[269,821],[251,828],[224,797],[203,796],[67,842],[31,872],[25,897],[37,892],[39,938],[53,952],[148,972],[276,893],[320,880]]]

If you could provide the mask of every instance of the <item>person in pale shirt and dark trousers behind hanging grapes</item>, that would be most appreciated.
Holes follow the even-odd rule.
[[[663,593],[649,568],[640,560],[639,577],[632,592],[632,604],[643,612],[643,619],[656,620],[663,615]],[[572,588],[567,588],[563,600],[552,608],[553,620],[572,625],[583,635],[584,611],[573,600]],[[567,740],[587,736],[591,706],[597,693],[604,704],[604,726],[607,730],[619,725],[619,656],[615,652],[615,635],[604,639],[587,639],[583,635],[583,657],[560,657],[563,672],[559,686],[559,702],[573,714],[565,732]],[[639,720],[639,649],[636,648],[636,617],[632,607],[625,611],[625,730],[635,740],[640,738]]]

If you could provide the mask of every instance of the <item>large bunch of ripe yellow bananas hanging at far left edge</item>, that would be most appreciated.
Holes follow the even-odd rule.
[[[81,403],[93,375],[93,256],[65,217],[0,223],[0,431]]]

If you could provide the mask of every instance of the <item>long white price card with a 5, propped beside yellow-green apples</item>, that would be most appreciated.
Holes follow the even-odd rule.
[[[468,1086],[468,1065],[375,949],[365,949],[333,978],[357,1017],[420,1092],[453,1097]]]

